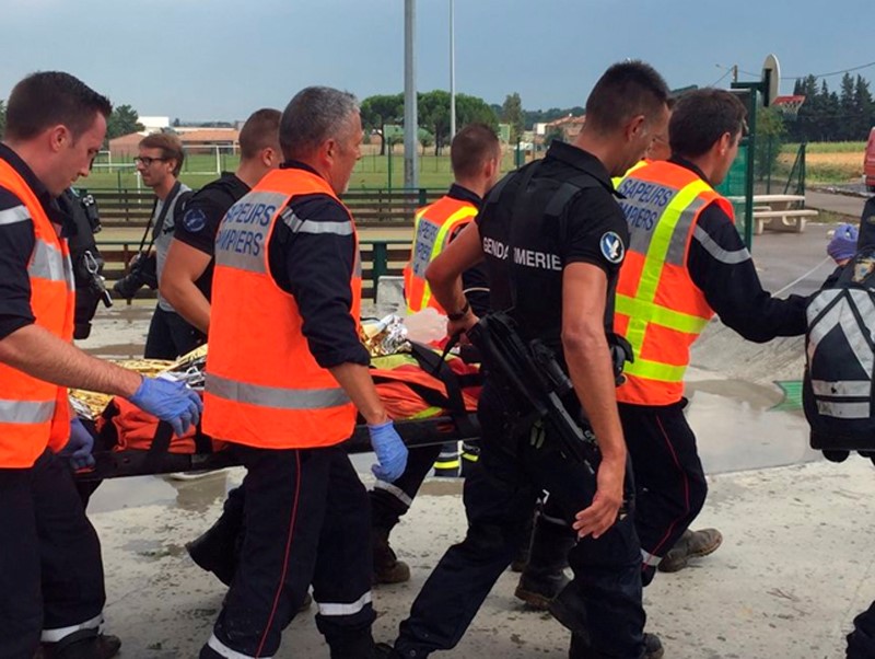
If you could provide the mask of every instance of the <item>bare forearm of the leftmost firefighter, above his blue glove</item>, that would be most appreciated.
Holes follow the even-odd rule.
[[[91,357],[37,325],[26,325],[1,339],[0,361],[60,386],[126,398],[142,382],[139,373]]]

